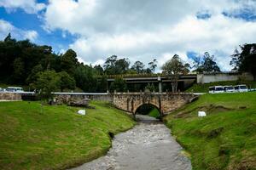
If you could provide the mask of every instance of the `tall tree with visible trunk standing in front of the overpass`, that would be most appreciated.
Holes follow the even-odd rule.
[[[189,72],[189,64],[183,63],[183,60],[175,54],[172,59],[166,61],[162,66],[163,73],[165,73],[171,80],[172,92],[177,92],[177,82],[180,74],[187,74]]]

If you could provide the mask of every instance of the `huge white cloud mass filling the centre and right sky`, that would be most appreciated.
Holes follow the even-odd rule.
[[[245,3],[246,2],[246,3]],[[253,0],[49,0],[44,14],[49,31],[78,35],[70,44],[85,63],[102,63],[112,54],[159,66],[173,54],[191,63],[186,52],[214,54],[224,71],[230,54],[243,43],[255,42],[256,23],[225,17],[241,8],[256,8]],[[212,17],[196,18],[202,10]]]

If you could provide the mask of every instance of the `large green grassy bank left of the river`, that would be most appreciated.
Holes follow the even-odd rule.
[[[107,103],[96,109],[37,102],[0,103],[0,169],[65,169],[91,161],[111,146],[108,132],[119,133],[135,122]]]

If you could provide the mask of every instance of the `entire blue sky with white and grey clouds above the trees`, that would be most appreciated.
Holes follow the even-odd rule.
[[[0,38],[9,32],[55,53],[73,48],[86,64],[113,54],[191,63],[207,51],[230,71],[234,49],[256,42],[256,0],[0,0]]]

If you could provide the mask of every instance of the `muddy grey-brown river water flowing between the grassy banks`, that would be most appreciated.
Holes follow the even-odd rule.
[[[189,159],[181,154],[170,130],[148,116],[139,116],[141,122],[113,139],[106,156],[85,163],[76,170],[190,170]]]

